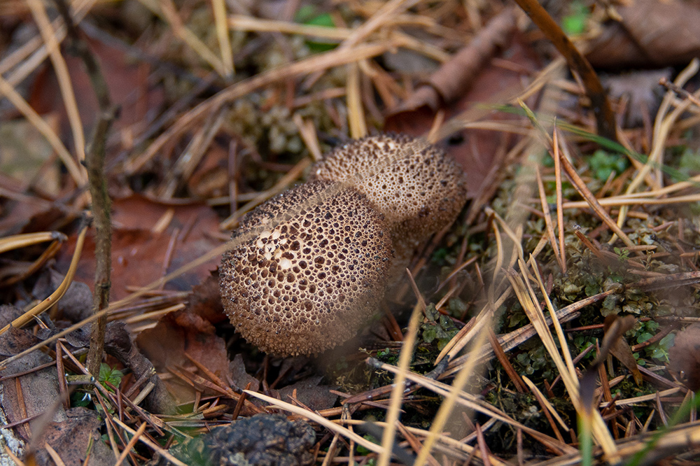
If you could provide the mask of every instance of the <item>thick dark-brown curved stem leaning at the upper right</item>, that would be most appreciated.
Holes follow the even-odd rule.
[[[556,50],[566,58],[570,68],[578,73],[586,89],[586,95],[591,99],[591,108],[596,115],[598,135],[617,141],[617,128],[615,126],[615,114],[610,108],[608,94],[603,89],[601,80],[586,57],[573,45],[573,42],[564,34],[559,24],[549,16],[547,10],[542,8],[538,0],[515,0],[520,8],[530,17],[535,26],[549,39]]]

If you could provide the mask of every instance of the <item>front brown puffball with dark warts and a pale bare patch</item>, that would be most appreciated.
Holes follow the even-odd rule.
[[[364,195],[313,181],[251,212],[223,257],[223,305],[262,351],[320,353],[377,311],[391,263],[386,224]]]

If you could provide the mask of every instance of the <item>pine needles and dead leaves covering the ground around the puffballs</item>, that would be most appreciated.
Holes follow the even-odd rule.
[[[321,4],[295,22],[294,2],[213,1],[213,9],[73,2],[78,21],[92,10],[82,31],[113,66],[111,92],[123,95],[115,81],[134,90],[125,96],[133,103],[125,109],[134,111],[107,141],[113,292],[99,314],[111,323],[104,371],[94,379],[84,361],[90,330],[78,330],[99,316],[86,304],[92,232],[80,266],[69,264],[88,206],[76,125],[89,127],[97,108],[76,96],[76,123],[65,94],[54,99],[62,91],[41,83],[54,79],[53,69],[30,74],[47,57],[45,33],[62,40],[64,32],[62,18],[53,17],[51,31],[38,22],[43,36],[34,29],[34,40],[18,42],[32,24],[17,13],[29,15],[27,5],[0,10],[8,31],[0,36],[0,70],[10,83],[0,90],[20,110],[3,104],[0,118],[38,127],[56,153],[73,157],[64,160],[73,171],[57,170],[59,158],[48,150],[20,171],[3,168],[0,241],[8,246],[0,275],[18,279],[1,290],[8,305],[0,316],[3,327],[25,325],[0,335],[8,464],[79,464],[87,456],[93,464],[141,464],[154,455],[183,464],[193,458],[172,447],[275,411],[311,423],[316,441],[303,450],[323,465],[385,465],[392,455],[420,465],[696,456],[700,179],[692,162],[696,108],[687,95],[668,90],[658,103],[649,94],[643,101],[623,95],[612,102],[617,115],[632,107],[640,117],[617,130],[617,141],[596,136],[591,94],[561,59],[540,65],[556,55],[535,48],[537,29],[524,26],[520,10],[508,13],[514,38],[486,34],[489,19],[508,11],[496,5]],[[588,10],[591,34],[603,18],[596,8]],[[641,6],[615,8],[625,21]],[[687,17],[696,14],[685,8]],[[614,8],[606,13],[615,18]],[[151,17],[151,27],[139,16]],[[118,31],[116,22],[129,27]],[[463,58],[458,49],[479,38],[487,52]],[[514,59],[513,47],[536,58]],[[445,64],[432,77],[392,68],[379,57],[396,48]],[[647,55],[649,65],[666,65]],[[469,91],[447,64],[472,73]],[[73,87],[87,87],[71,66]],[[675,76],[690,92],[693,66]],[[451,88],[449,96],[442,86],[421,87],[426,78]],[[500,80],[508,84],[494,92]],[[395,112],[422,106],[421,92],[433,89],[440,99],[428,99],[420,118]],[[22,98],[49,124],[41,126]],[[303,179],[313,154],[389,128],[426,135],[454,154],[472,176],[472,205],[419,251],[414,286],[388,292],[379,325],[316,360],[260,353],[218,311],[209,271],[226,247],[228,232],[219,227],[235,227],[246,211]],[[50,177],[50,189],[40,175]],[[52,230],[68,234],[68,244],[55,234],[43,240],[55,241],[49,248],[12,236]],[[65,294],[50,306],[56,288]],[[615,316],[624,316],[622,330],[605,332],[622,325]],[[29,352],[38,347],[44,352]]]

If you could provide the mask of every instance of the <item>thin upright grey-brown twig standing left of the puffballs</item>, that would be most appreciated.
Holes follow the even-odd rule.
[[[97,313],[109,305],[109,289],[111,288],[110,271],[112,268],[112,234],[110,221],[110,199],[107,192],[107,181],[104,176],[104,157],[106,152],[107,136],[112,122],[117,115],[117,108],[111,103],[109,88],[102,74],[99,63],[94,57],[87,43],[78,33],[78,28],[73,22],[69,7],[65,0],[55,0],[60,15],[66,23],[68,36],[71,38],[73,51],[85,64],[87,76],[90,78],[92,90],[99,104],[99,115],[94,127],[92,141],[85,153],[85,167],[87,168],[87,184],[92,197],[92,215],[94,216],[95,236],[95,281],[92,311]],[[107,316],[101,316],[92,325],[90,334],[90,349],[87,352],[85,366],[90,374],[99,375],[99,365],[104,353],[104,332],[107,325]]]

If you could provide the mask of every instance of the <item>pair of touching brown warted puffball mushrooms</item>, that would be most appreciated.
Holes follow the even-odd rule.
[[[332,150],[307,183],[258,206],[234,232],[239,243],[220,271],[231,323],[277,355],[344,343],[465,195],[454,160],[419,139],[385,134]]]

